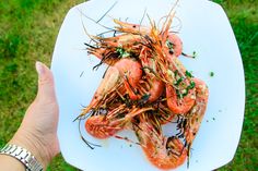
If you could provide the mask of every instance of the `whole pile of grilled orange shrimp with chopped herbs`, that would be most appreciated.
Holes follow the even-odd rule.
[[[175,12],[161,28],[114,20],[112,37],[91,36],[87,52],[108,65],[90,105],[80,118],[99,139],[132,130],[146,158],[159,169],[175,169],[189,158],[208,103],[208,86],[186,70],[178,57],[183,42],[171,30]],[[177,134],[162,125],[176,120]]]

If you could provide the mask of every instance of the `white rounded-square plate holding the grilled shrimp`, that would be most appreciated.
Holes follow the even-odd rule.
[[[90,149],[80,138],[78,122],[73,119],[89,105],[105,66],[97,71],[95,57],[89,57],[83,30],[96,35],[106,30],[82,15],[98,20],[117,1],[101,24],[113,27],[113,17],[140,23],[144,10],[159,21],[168,14],[174,0],[93,0],[72,8],[61,26],[52,57],[57,97],[60,106],[58,136],[67,162],[86,171],[156,171],[141,148],[124,141],[97,141],[85,133],[90,142],[103,145]],[[177,5],[181,22],[180,37],[184,51],[197,51],[198,57],[180,60],[194,75],[206,81],[210,89],[207,113],[194,142],[189,171],[209,171],[230,162],[235,154],[244,118],[245,83],[242,58],[228,20],[222,8],[207,0],[181,0]],[[178,24],[179,20],[175,20]],[[82,22],[83,21],[83,22]],[[143,21],[148,24],[145,17]],[[177,25],[176,24],[176,25]],[[178,27],[175,27],[178,29]],[[210,72],[214,76],[210,76]],[[166,132],[169,131],[166,127]],[[132,132],[120,135],[136,139]],[[187,170],[186,164],[176,169]]]

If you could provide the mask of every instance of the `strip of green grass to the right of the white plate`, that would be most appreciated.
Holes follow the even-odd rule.
[[[258,159],[258,1],[220,1],[232,23],[241,49],[246,82],[245,121],[239,146],[227,170],[257,170]]]

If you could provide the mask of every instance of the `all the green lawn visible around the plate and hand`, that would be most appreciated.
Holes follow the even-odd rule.
[[[37,83],[35,61],[50,65],[62,20],[71,7],[81,2],[83,0],[0,1],[0,147],[14,134],[34,99]],[[223,5],[231,20],[246,78],[246,110],[241,143],[234,160],[219,170],[255,171],[258,168],[258,1],[216,2]],[[49,170],[75,169],[58,156]]]

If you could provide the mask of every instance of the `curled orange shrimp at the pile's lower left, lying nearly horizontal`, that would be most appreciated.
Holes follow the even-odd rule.
[[[117,132],[125,129],[133,117],[153,110],[153,108],[127,108],[126,105],[120,105],[108,111],[105,115],[93,115],[85,122],[85,129],[92,136],[104,139],[115,135]]]

